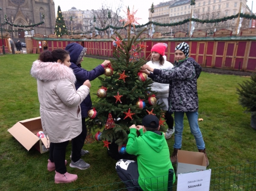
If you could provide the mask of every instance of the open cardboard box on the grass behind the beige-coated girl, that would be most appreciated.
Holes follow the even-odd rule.
[[[45,153],[49,149],[50,141],[46,137],[40,139],[36,136],[37,132],[43,131],[40,117],[19,121],[8,131],[27,150],[34,146],[40,153]]]

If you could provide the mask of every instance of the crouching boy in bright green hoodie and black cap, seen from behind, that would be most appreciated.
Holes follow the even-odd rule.
[[[142,125],[129,127],[126,151],[137,155],[134,160],[121,159],[116,171],[127,190],[167,190],[169,169],[173,169],[165,135],[159,131],[159,120],[146,115]],[[137,136],[137,131],[140,136]],[[175,174],[173,175],[173,183]]]

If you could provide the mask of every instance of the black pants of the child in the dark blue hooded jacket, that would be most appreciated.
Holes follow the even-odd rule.
[[[87,129],[85,125],[85,118],[82,118],[82,132],[77,137],[72,139],[72,160],[77,162],[81,159],[81,149],[85,144],[85,138],[87,135]]]

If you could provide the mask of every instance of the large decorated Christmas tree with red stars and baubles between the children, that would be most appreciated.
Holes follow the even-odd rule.
[[[116,59],[105,68],[105,76],[99,77],[101,85],[96,93],[99,101],[88,112],[90,119],[86,121],[89,128],[103,129],[95,138],[104,142],[108,154],[114,159],[129,158],[125,144],[132,124],[141,125],[142,118],[148,114],[156,115],[162,127],[165,121],[162,106],[157,104],[156,92],[150,88],[152,80],[140,72],[146,60],[140,58],[139,53],[146,46],[142,39],[138,39],[144,31],[131,38],[131,27],[135,29],[137,23],[135,13],[127,8],[127,18],[121,20],[125,22],[124,27],[128,26],[128,38],[124,40],[119,33],[113,38]]]

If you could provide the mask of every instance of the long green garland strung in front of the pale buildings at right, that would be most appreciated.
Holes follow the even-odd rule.
[[[185,24],[185,23],[188,23],[191,21],[195,21],[195,22],[198,22],[198,23],[220,23],[220,22],[223,22],[223,21],[226,21],[226,20],[232,20],[232,19],[236,19],[238,18],[238,14],[236,15],[232,15],[232,16],[225,16],[224,18],[220,18],[220,19],[205,19],[205,20],[202,20],[202,19],[195,19],[195,18],[191,18],[191,19],[184,19],[183,21],[179,21],[179,22],[176,22],[176,23],[157,23],[157,22],[154,22],[154,21],[149,21],[148,23],[146,24],[142,24],[142,25],[135,25],[135,28],[141,28],[141,27],[145,27],[146,25],[149,25],[149,24],[154,24],[154,25],[157,25],[157,26],[160,26],[160,27],[174,27],[174,26],[178,26],[178,25],[182,25],[182,24]],[[245,18],[245,19],[256,19],[256,15],[249,15],[249,14],[240,14],[240,18]],[[112,29],[123,29],[123,28],[126,28],[127,26],[125,27],[114,27],[112,25],[108,25],[106,28],[103,28],[103,29],[100,29],[98,27],[95,27],[96,30],[98,31],[106,31],[108,28],[112,28]]]

